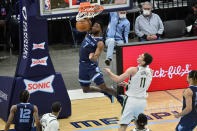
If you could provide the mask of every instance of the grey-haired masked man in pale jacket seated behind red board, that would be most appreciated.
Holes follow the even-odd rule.
[[[164,31],[163,23],[160,17],[152,13],[152,5],[145,2],[142,5],[143,14],[138,16],[135,21],[135,33],[139,41],[152,41],[161,39]]]

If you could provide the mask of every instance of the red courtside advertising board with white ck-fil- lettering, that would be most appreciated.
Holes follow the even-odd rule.
[[[153,69],[153,81],[149,91],[186,88],[188,72],[197,69],[196,49],[197,37],[118,46],[118,74],[130,66],[137,66],[138,56],[147,52],[153,56],[150,65]]]

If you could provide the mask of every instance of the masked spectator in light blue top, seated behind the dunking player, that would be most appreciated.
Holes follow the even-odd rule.
[[[110,22],[106,31],[107,56],[106,65],[110,65],[116,44],[128,43],[130,22],[126,18],[126,11],[110,12]]]

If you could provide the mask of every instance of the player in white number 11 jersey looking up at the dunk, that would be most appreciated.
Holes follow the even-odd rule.
[[[153,58],[150,54],[141,54],[137,59],[139,65],[128,68],[120,76],[112,73],[109,68],[105,68],[105,71],[114,82],[127,84],[123,81],[130,77],[127,84],[128,90],[125,93],[126,97],[123,103],[119,131],[125,131],[130,122],[136,120],[140,113],[144,113],[148,96],[146,91],[152,81],[152,70],[148,65],[152,63],[152,60]]]

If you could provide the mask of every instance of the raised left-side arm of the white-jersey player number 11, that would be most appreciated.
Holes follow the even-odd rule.
[[[121,74],[120,76],[114,74],[113,72],[111,72],[111,70],[109,68],[104,68],[105,72],[109,75],[109,77],[114,81],[114,82],[122,82],[124,81],[126,78],[128,78],[129,76],[133,76],[133,74],[136,73],[136,67],[130,67],[128,68],[123,74]]]

